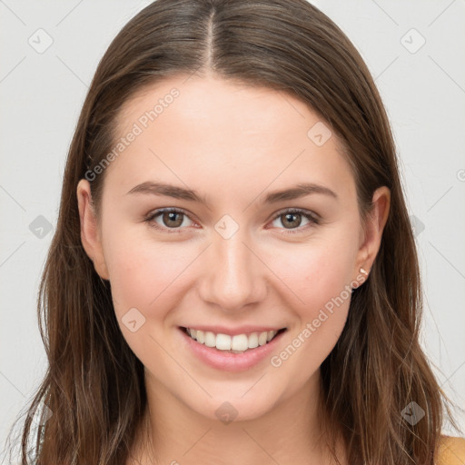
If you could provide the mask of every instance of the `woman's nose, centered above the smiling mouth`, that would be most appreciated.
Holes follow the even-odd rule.
[[[203,278],[198,286],[203,302],[223,312],[239,312],[264,299],[267,268],[250,242],[241,228],[228,239],[213,234],[213,243],[203,253]]]

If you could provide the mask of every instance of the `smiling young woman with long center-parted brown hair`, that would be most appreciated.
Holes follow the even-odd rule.
[[[304,0],[158,0],[124,26],[75,130],[40,302],[37,464],[464,453],[441,438],[380,95]]]

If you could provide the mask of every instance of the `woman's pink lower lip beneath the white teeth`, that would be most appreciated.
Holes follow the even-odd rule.
[[[178,328],[183,334],[193,353],[207,365],[223,371],[244,371],[249,370],[253,366],[263,361],[276,348],[282,335],[287,331],[282,331],[272,338],[272,341],[264,345],[260,345],[254,349],[249,349],[243,353],[233,353],[227,351],[219,351],[215,347],[207,347],[200,342],[194,341],[191,336],[186,334],[183,329]]]

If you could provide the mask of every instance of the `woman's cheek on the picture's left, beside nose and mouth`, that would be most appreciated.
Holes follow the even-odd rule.
[[[104,244],[116,319],[137,358],[147,367],[156,361],[155,372],[173,370],[173,361],[155,341],[163,340],[163,326],[183,297],[183,272],[198,253],[134,231],[116,232]]]

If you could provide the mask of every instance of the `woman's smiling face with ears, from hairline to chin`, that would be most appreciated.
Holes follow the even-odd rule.
[[[378,251],[389,192],[375,193],[380,210],[365,236],[328,124],[289,94],[211,76],[139,94],[124,105],[118,134],[102,168],[99,223],[89,183],[79,184],[82,237],[111,282],[146,382],[205,417],[235,420],[316,386],[351,286]],[[252,347],[207,347],[182,328],[208,345]],[[260,345],[262,332],[284,328]]]

